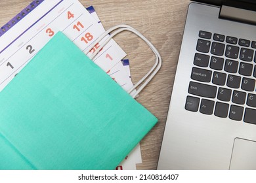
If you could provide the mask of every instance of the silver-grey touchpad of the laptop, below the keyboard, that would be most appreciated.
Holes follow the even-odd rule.
[[[235,139],[230,170],[256,170],[256,142]]]

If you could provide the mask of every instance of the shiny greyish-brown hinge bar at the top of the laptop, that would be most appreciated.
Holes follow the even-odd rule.
[[[256,12],[253,10],[245,10],[223,5],[221,7],[219,18],[256,25]]]

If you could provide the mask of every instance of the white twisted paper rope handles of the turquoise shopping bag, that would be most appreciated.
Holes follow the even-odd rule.
[[[114,31],[114,32],[113,32]],[[108,39],[106,39],[104,42],[102,42],[102,44],[99,46],[99,48],[90,56],[90,59],[93,60],[93,58],[95,58],[96,54],[98,54],[98,52],[117,34],[121,33],[122,31],[130,31],[132,33],[135,33],[135,35],[137,35],[138,37],[140,37],[144,42],[146,42],[146,44],[148,44],[148,46],[152,49],[152,52],[154,52],[154,54],[156,55],[156,62],[154,63],[154,66],[152,67],[152,69],[150,69],[150,71],[148,71],[148,73],[146,73],[145,76],[142,77],[141,80],[139,80],[139,82],[137,82],[137,84],[135,84],[135,86],[133,86],[133,88],[131,88],[128,93],[133,92],[140,84],[142,84],[142,82],[144,82],[140,88],[137,90],[137,92],[133,93],[132,97],[135,98],[145,87],[146,85],[150,82],[150,80],[152,80],[152,78],[154,78],[154,76],[158,73],[158,71],[161,68],[161,56],[160,53],[158,52],[158,50],[155,48],[155,46],[148,41],[148,39],[146,39],[146,37],[144,37],[139,31],[137,31],[136,29],[134,29],[133,27],[129,26],[129,25],[116,25],[110,29],[108,29],[105,33],[103,33],[102,35],[100,35],[100,37],[98,37],[98,39],[96,39],[93,44],[91,44],[91,46],[89,46],[86,50],[85,50],[85,54],[88,54],[90,52],[91,49],[93,49],[95,47],[95,45],[102,41],[102,39],[104,39],[104,37],[106,37],[107,35],[109,35],[110,33],[112,33]]]

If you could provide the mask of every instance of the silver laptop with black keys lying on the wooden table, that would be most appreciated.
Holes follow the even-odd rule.
[[[256,1],[188,7],[158,169],[256,169]]]

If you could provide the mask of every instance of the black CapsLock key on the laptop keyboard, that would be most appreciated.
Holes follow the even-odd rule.
[[[205,69],[199,69],[196,67],[193,67],[191,78],[193,80],[198,80],[202,82],[210,82],[211,81],[211,71],[205,70]]]

